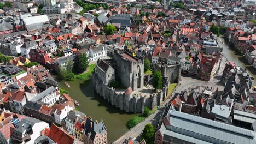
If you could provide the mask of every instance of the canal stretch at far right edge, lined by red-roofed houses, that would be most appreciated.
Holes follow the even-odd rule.
[[[254,69],[251,65],[248,65],[248,63],[245,61],[245,58],[243,58],[240,53],[236,52],[234,49],[228,46],[228,40],[225,40],[224,44],[219,43],[219,46],[223,47],[223,53],[228,61],[232,61],[236,65],[246,69],[248,73],[254,77],[254,86],[256,86],[256,69]]]

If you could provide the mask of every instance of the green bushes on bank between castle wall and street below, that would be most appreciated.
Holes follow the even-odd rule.
[[[142,122],[145,118],[147,118],[148,116],[150,116],[152,113],[154,113],[156,110],[158,109],[157,106],[155,106],[152,110],[149,110],[148,107],[144,107],[144,113],[142,113],[139,116],[135,116],[130,118],[127,122],[126,122],[126,127],[127,128],[134,128],[137,124],[139,124],[140,122]]]

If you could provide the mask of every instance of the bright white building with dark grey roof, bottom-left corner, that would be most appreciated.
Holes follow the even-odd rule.
[[[13,135],[15,143],[33,144],[45,128],[49,128],[49,124],[40,121],[36,118],[23,118],[21,122],[16,125]]]

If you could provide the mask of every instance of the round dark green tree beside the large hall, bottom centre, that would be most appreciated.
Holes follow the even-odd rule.
[[[155,137],[155,130],[153,128],[153,125],[148,123],[145,125],[144,129],[142,130],[142,138],[145,139],[146,143],[154,143],[154,137]]]

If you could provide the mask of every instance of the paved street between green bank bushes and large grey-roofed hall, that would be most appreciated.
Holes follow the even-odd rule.
[[[137,138],[141,135],[142,130],[144,129],[145,125],[150,123],[153,125],[154,128],[157,127],[159,119],[161,117],[162,111],[156,110],[155,113],[147,117],[144,121],[141,123],[137,124],[134,128],[130,129],[125,133],[123,136],[121,136],[118,140],[113,142],[113,144],[120,144],[123,143],[125,139],[128,139],[131,137],[132,139]]]

